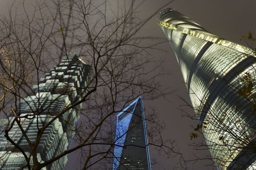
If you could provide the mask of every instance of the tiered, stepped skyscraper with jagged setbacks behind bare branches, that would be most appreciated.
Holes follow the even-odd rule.
[[[19,119],[20,124],[29,140],[34,143],[38,128],[42,128],[52,118],[63,113],[44,130],[40,138],[36,147],[40,163],[69,149],[75,135],[74,130],[82,104],[76,105],[67,111],[65,109],[70,104],[79,101],[83,96],[90,67],[84,64],[76,54],[71,53],[50,71],[44,78],[40,79],[38,85],[33,86],[29,96],[20,99],[17,111],[9,116],[10,122],[17,115],[23,117]],[[6,126],[11,126],[8,124],[8,119],[1,119],[0,129],[3,131]],[[26,165],[26,159],[17,147],[7,141],[4,134],[0,134],[0,169],[20,170],[23,165]],[[29,147],[17,123],[14,123],[9,131],[9,136],[29,157],[31,147]],[[43,169],[62,170],[66,163],[67,155]],[[32,158],[30,159],[30,165],[33,166]]]

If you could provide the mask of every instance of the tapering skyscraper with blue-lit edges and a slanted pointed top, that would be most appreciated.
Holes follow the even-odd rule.
[[[151,170],[142,98],[116,118],[112,170]]]

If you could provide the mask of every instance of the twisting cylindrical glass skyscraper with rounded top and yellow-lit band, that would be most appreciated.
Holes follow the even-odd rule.
[[[172,45],[217,167],[255,168],[253,51],[209,33],[172,8],[161,11],[157,20]]]

